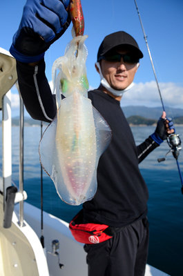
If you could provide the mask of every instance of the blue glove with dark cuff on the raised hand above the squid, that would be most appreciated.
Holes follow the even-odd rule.
[[[39,61],[70,24],[70,0],[27,0],[10,53],[24,63]]]

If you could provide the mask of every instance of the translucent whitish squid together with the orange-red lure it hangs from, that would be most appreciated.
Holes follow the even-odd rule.
[[[79,205],[96,193],[97,165],[110,144],[111,130],[87,97],[88,51],[84,41],[88,36],[84,35],[79,0],[70,2],[70,16],[73,39],[64,57],[56,59],[52,66],[57,115],[41,138],[39,157],[59,197],[67,204]]]

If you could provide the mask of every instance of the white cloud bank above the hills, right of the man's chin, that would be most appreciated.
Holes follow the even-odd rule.
[[[159,83],[164,106],[183,108],[183,87],[176,83]],[[124,93],[122,106],[161,106],[160,94],[155,81],[135,83]]]

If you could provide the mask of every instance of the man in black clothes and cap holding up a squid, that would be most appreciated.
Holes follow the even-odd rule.
[[[45,75],[44,52],[70,23],[66,12],[69,1],[62,2],[28,0],[10,48],[17,59],[25,106],[33,118],[43,121],[51,121],[56,113],[55,99]],[[97,90],[88,92],[88,97],[108,122],[113,137],[99,159],[97,193],[83,204],[83,221],[106,224],[116,233],[105,242],[84,246],[89,276],[142,276],[145,272],[148,190],[138,164],[174,129],[164,112],[155,132],[135,146],[120,100],[131,88],[142,57],[135,39],[123,31],[105,37],[97,54],[95,67],[101,83]]]

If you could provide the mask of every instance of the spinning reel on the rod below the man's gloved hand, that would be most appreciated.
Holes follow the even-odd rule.
[[[182,149],[181,140],[180,140],[179,135],[173,133],[171,135],[168,135],[166,140],[167,140],[168,146],[171,148],[170,150],[168,150],[166,155],[168,155],[169,152],[172,152],[173,157],[177,160],[179,155],[180,155],[180,150]],[[165,161],[165,160],[166,160],[165,157],[157,159],[158,162],[162,162],[162,161]]]

